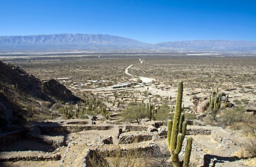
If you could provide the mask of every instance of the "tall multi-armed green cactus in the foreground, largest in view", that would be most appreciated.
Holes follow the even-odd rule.
[[[182,107],[181,107],[182,95],[183,95],[183,82],[179,81],[174,119],[173,121],[169,120],[167,123],[168,148],[171,153],[172,164],[174,165],[174,167],[181,167],[181,163],[179,161],[179,153],[181,151],[182,142],[186,135],[187,123],[186,121],[184,121],[184,113],[182,113]],[[192,138],[188,137],[183,167],[189,166],[191,149],[192,149]]]

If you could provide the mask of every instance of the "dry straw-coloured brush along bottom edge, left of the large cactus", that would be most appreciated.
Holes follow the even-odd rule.
[[[170,153],[165,144],[159,149],[145,153],[135,150],[114,150],[108,153],[93,152],[89,167],[173,167],[169,161]]]

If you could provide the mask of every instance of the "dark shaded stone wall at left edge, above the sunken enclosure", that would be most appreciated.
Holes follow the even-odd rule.
[[[0,134],[0,150],[6,145],[24,138],[24,130],[16,130],[14,132]]]

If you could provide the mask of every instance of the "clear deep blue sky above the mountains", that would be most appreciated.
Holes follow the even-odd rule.
[[[0,36],[256,41],[256,0],[0,0]]]

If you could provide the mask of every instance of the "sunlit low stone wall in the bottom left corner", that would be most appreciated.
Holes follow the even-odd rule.
[[[13,153],[16,156],[10,156],[9,154]],[[19,155],[17,155],[19,153]],[[40,152],[36,151],[22,151],[22,152],[2,152],[0,156],[0,161],[52,161],[52,160],[60,160],[60,154],[49,155],[45,153],[41,153],[41,155],[37,155]]]

